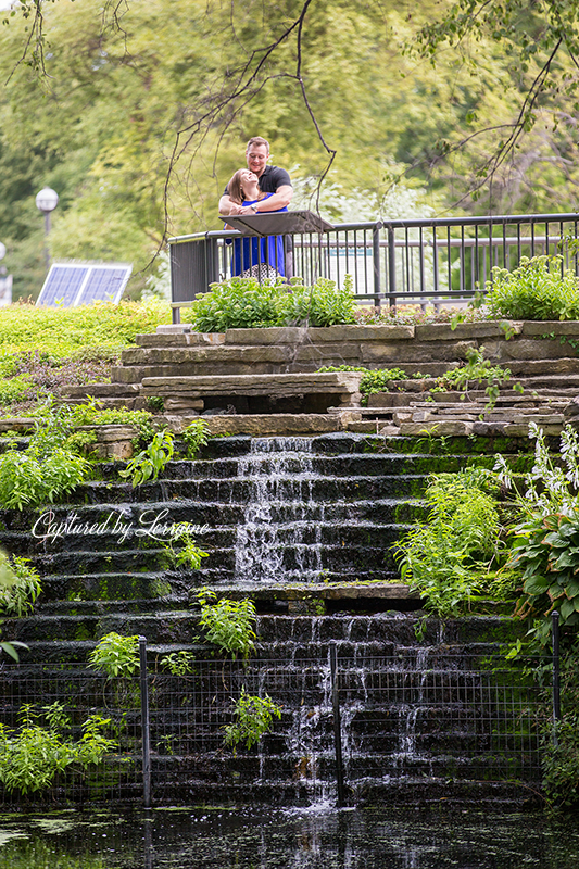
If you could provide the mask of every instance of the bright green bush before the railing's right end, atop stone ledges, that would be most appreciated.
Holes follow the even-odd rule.
[[[579,280],[562,256],[523,256],[514,272],[493,268],[484,304],[494,317],[565,320],[579,318]]]

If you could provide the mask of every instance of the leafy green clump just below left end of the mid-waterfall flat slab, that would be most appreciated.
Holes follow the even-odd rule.
[[[255,605],[253,601],[230,601],[211,589],[200,589],[197,600],[201,604],[200,626],[210,643],[234,656],[247,660],[255,648]],[[213,603],[215,602],[215,603]]]

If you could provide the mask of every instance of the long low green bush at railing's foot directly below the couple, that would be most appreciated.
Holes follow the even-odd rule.
[[[351,279],[342,289],[326,278],[313,287],[292,280],[288,291],[282,279],[263,281],[234,277],[212,284],[191,306],[191,323],[200,332],[266,326],[333,326],[354,323],[355,303]]]

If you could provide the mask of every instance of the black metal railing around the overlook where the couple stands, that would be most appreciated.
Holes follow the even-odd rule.
[[[579,273],[569,247],[578,225],[579,214],[339,224],[330,232],[286,236],[285,270],[306,284],[325,277],[341,285],[351,275],[363,304],[456,304],[484,289],[493,266],[512,269],[521,256],[562,253],[564,265]],[[231,276],[231,241],[240,238],[210,231],[169,239],[175,323],[198,293]]]

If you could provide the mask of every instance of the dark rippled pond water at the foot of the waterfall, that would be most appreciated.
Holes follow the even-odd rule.
[[[579,869],[579,817],[413,808],[0,816],[1,869]]]

